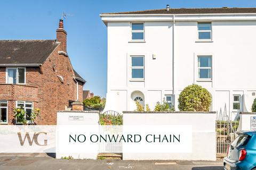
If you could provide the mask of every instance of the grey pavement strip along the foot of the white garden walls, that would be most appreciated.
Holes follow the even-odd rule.
[[[161,161],[161,160],[75,160],[55,159],[52,155],[0,155],[1,170],[106,170],[106,169],[138,169],[138,170],[219,170],[223,169],[221,160],[206,161]]]

